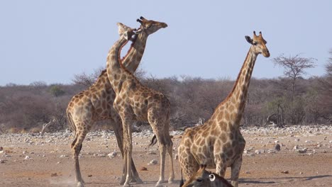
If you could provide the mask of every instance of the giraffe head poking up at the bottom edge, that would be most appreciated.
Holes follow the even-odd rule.
[[[199,170],[188,181],[181,181],[180,187],[233,187],[218,174],[206,171],[206,165],[201,164]]]

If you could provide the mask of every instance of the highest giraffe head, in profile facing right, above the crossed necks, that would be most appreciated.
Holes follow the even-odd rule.
[[[159,21],[147,20],[140,16],[137,21],[140,23],[140,28],[136,33],[144,32],[147,35],[155,33],[160,28],[167,28],[167,24]]]

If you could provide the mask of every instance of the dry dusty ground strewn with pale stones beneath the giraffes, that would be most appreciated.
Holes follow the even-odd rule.
[[[332,186],[331,126],[243,128],[241,131],[247,145],[239,186]],[[171,132],[175,143],[173,158],[181,133]],[[158,179],[159,165],[148,165],[152,159],[159,161],[157,147],[146,148],[151,137],[151,132],[133,135],[135,164],[138,169],[148,168],[148,171],[139,171],[145,183],[133,186],[154,186]],[[70,132],[44,137],[0,135],[0,146],[4,147],[0,151],[0,186],[75,186],[71,141]],[[274,153],[276,142],[282,147]],[[121,156],[119,153],[113,158],[107,156],[114,149],[118,152],[113,132],[91,132],[84,140],[80,165],[86,186],[118,186]],[[151,152],[156,154],[148,154]],[[176,181],[165,186],[179,186],[179,163],[177,160],[174,163]],[[229,169],[226,178],[229,178]]]

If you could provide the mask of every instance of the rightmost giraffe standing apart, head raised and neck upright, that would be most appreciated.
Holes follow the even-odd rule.
[[[194,128],[187,128],[178,147],[179,163],[184,177],[190,177],[199,169],[199,164],[216,168],[216,174],[225,176],[231,167],[231,183],[238,186],[245,140],[240,133],[240,120],[245,108],[250,77],[259,54],[270,57],[262,33],[253,33],[253,39],[245,36],[251,44],[233,90],[219,103],[211,118]]]

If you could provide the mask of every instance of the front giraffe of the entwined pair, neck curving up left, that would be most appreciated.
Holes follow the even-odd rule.
[[[137,33],[148,34],[148,28],[154,26],[150,21],[140,17],[138,22],[141,23]],[[167,24],[164,23],[164,27]],[[160,178],[157,181],[157,186],[164,182],[165,173],[165,154],[170,154],[170,178],[169,183],[174,180],[174,169],[172,162],[172,140],[169,134],[170,122],[170,101],[158,91],[149,89],[140,84],[131,72],[119,63],[119,54],[123,45],[126,45],[128,38],[131,38],[133,30],[128,30],[127,35],[123,35],[118,39],[109,50],[109,55],[106,62],[106,70],[109,76],[109,81],[116,93],[114,100],[114,108],[121,116],[123,125],[123,152],[124,165],[126,166],[126,181],[123,186],[130,186],[131,181],[131,162],[132,158],[132,130],[131,125],[140,120],[148,121],[153,128],[153,132],[157,137],[160,148]]]

